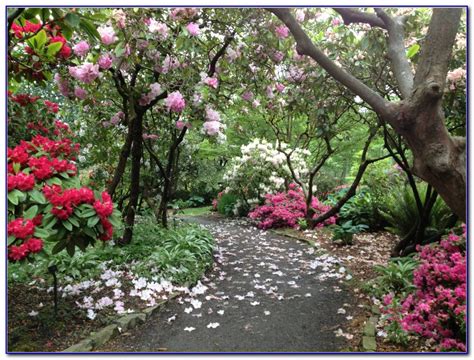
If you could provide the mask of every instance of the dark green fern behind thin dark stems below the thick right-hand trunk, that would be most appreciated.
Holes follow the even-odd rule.
[[[422,203],[425,202],[426,187],[427,185],[424,183],[417,184]],[[380,213],[390,224],[387,229],[401,237],[407,235],[420,221],[415,195],[412,189],[407,185],[394,188],[392,192],[386,196],[384,208]],[[443,199],[438,196],[428,219],[425,236],[430,236],[445,230],[451,215],[451,210],[447,207]]]

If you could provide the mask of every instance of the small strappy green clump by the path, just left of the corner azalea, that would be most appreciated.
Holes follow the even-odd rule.
[[[377,298],[386,294],[404,297],[415,289],[413,285],[413,271],[419,261],[411,256],[393,258],[386,266],[375,266],[379,276],[369,282],[366,290]]]

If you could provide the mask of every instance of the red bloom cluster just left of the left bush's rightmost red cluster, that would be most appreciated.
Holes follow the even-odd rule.
[[[94,192],[83,187],[80,189],[63,190],[61,186],[45,186],[43,193],[46,199],[54,206],[51,213],[58,219],[67,220],[74,212],[74,208],[80,204],[93,204]]]

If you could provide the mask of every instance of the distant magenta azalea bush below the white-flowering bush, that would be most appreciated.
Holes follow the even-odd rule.
[[[331,207],[324,205],[317,198],[313,197],[311,206],[315,210],[314,217],[325,213]],[[306,216],[306,202],[303,191],[294,184],[290,185],[288,192],[277,194],[266,194],[265,204],[257,206],[249,213],[249,217],[259,220],[258,227],[261,229],[298,227],[298,220]],[[318,227],[336,223],[336,217],[332,216]]]

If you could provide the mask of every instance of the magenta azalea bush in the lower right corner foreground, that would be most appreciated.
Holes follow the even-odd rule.
[[[432,339],[437,351],[466,351],[466,252],[462,236],[418,249],[416,290],[398,301],[384,297],[384,313],[403,330]]]

